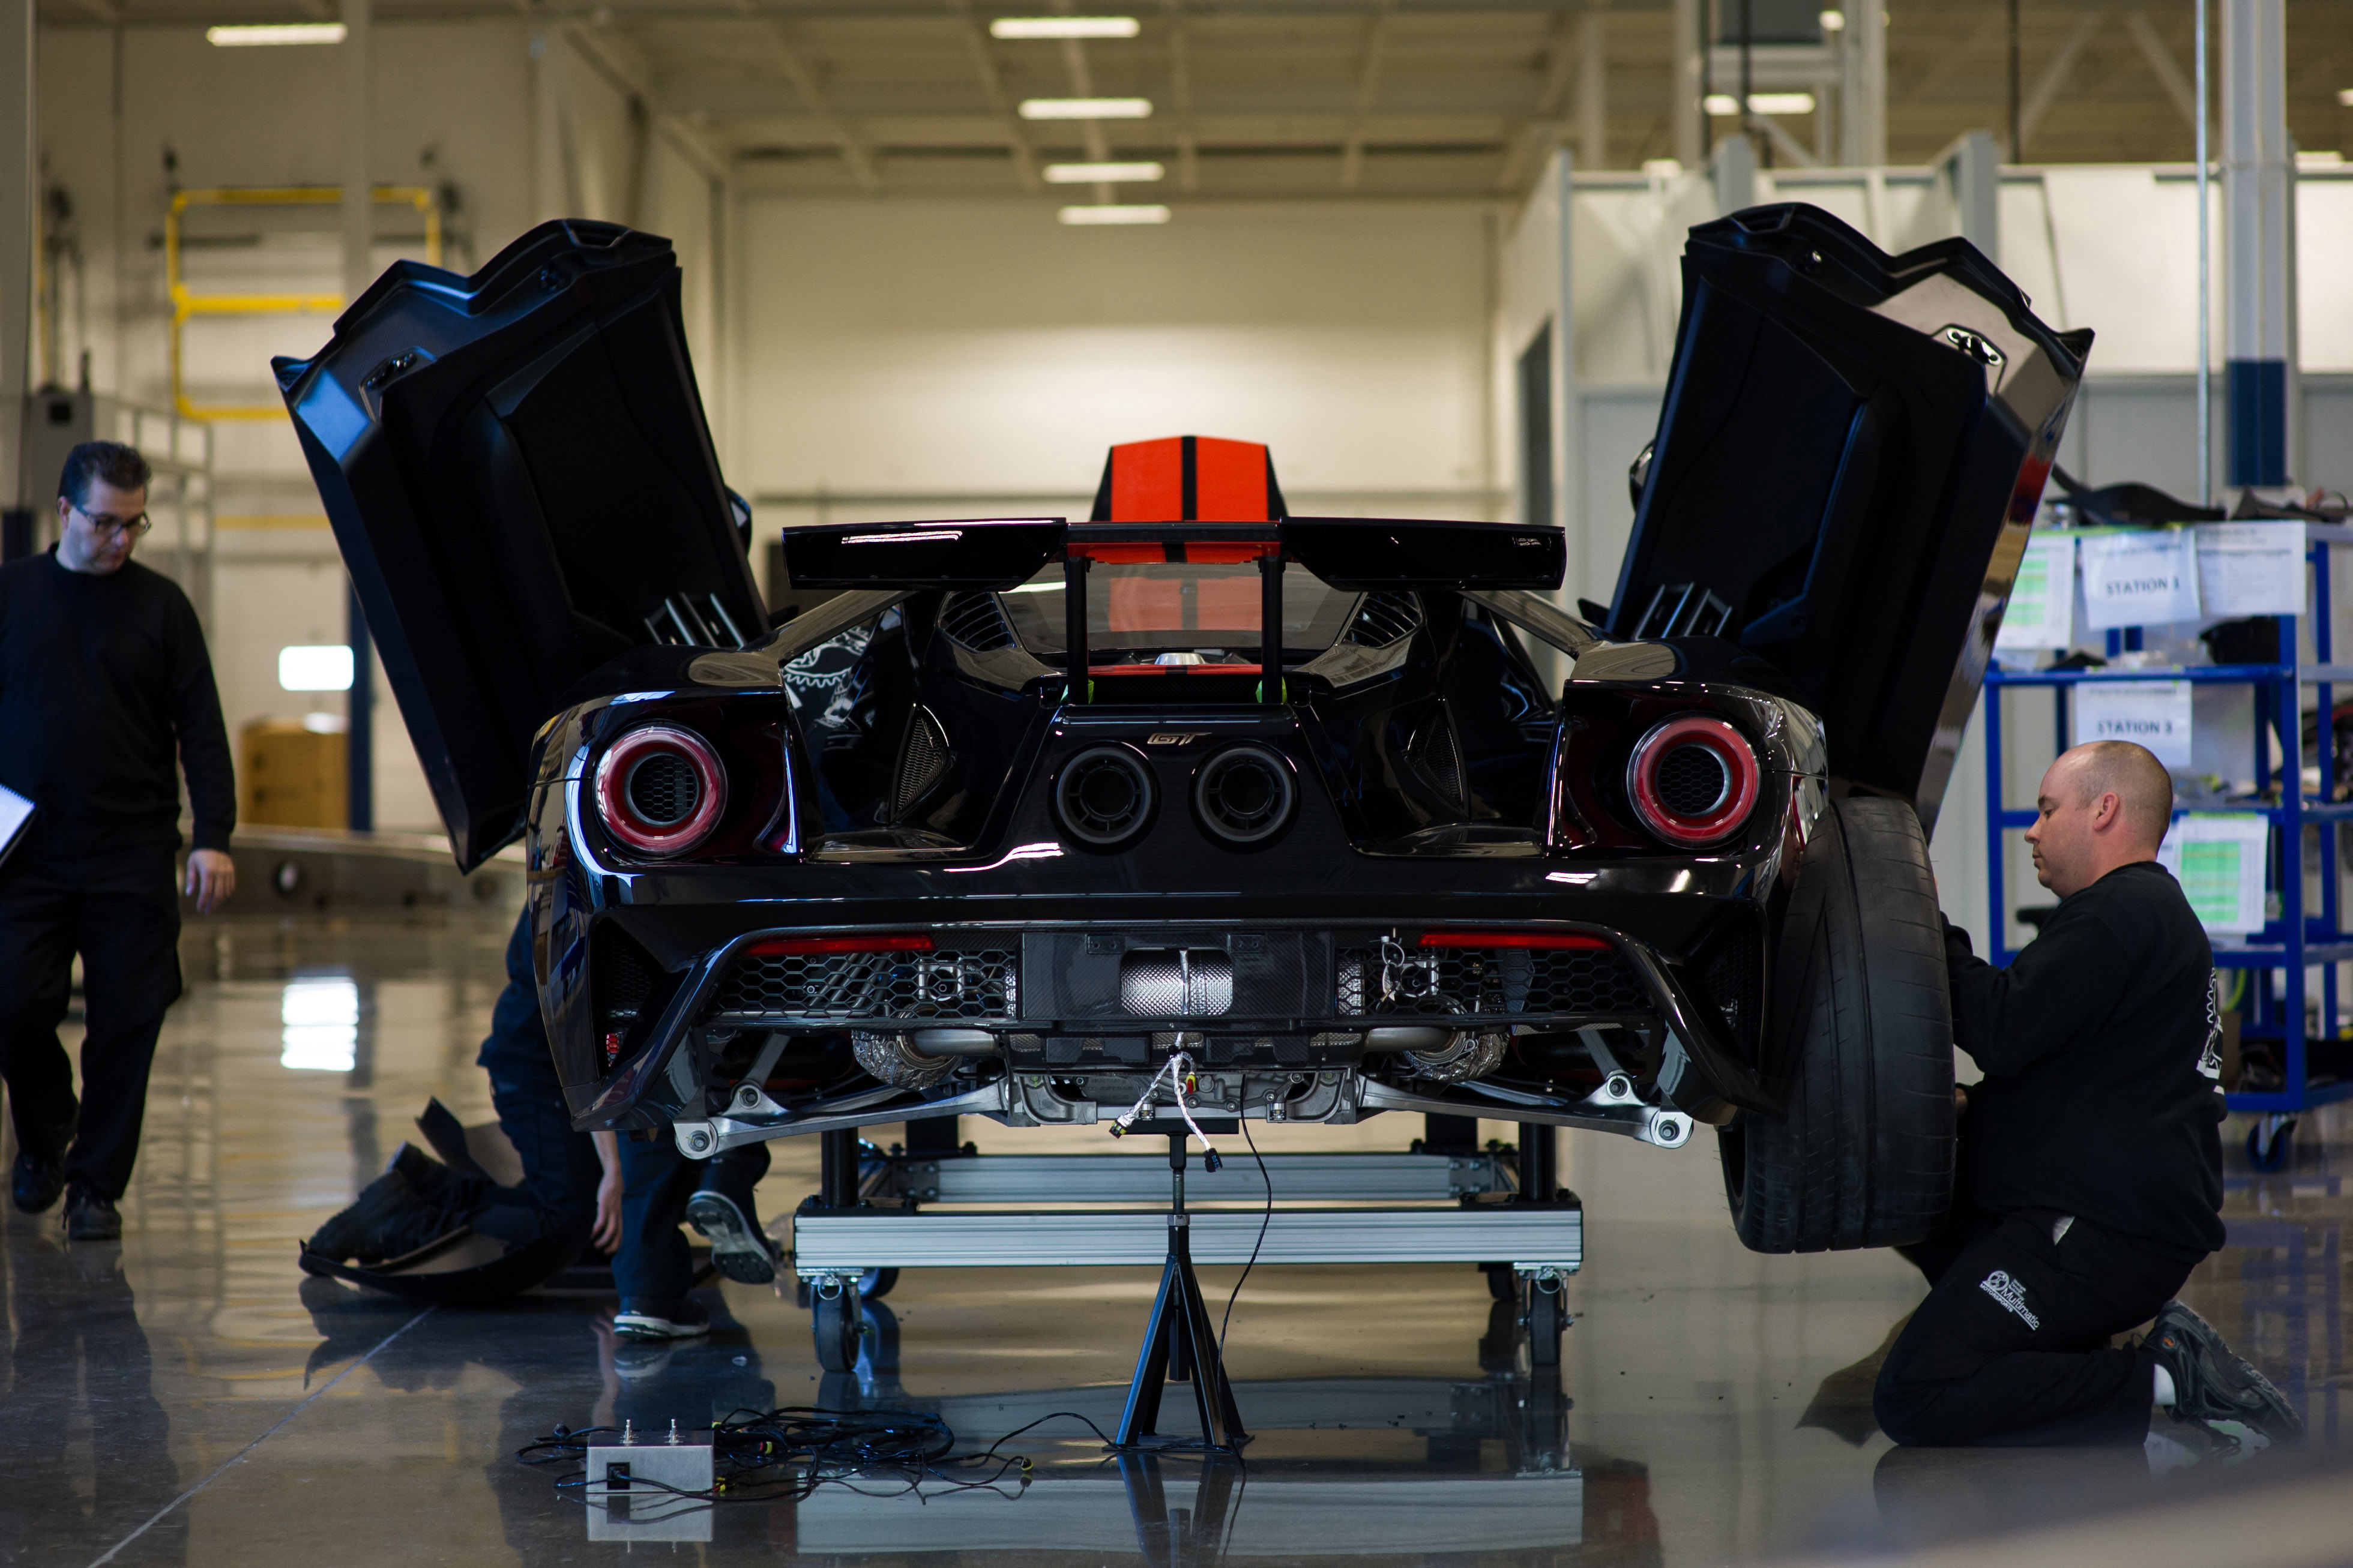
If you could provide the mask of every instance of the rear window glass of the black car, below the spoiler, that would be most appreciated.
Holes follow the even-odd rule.
[[[1306,571],[1282,574],[1282,649],[1320,654],[1339,642],[1362,595]],[[1061,564],[1000,595],[1021,646],[1066,651]],[[1259,569],[1188,562],[1106,564],[1087,574],[1087,649],[1200,654],[1257,663]]]

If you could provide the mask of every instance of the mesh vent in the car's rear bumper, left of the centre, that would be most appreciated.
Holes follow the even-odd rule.
[[[1014,954],[814,952],[741,957],[711,997],[711,1018],[889,1020],[1012,1018]]]

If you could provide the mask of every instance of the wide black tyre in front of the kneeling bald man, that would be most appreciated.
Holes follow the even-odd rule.
[[[1937,1229],[1953,1201],[1953,1004],[1908,804],[1824,813],[1781,922],[1765,1053],[1788,1121],[1741,1112],[1718,1131],[1741,1241],[1821,1253]]]

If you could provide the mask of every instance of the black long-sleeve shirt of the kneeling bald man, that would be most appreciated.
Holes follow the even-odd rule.
[[[1993,969],[1944,929],[1969,1086],[1962,1180],[1993,1213],[2057,1211],[2181,1258],[2224,1244],[2214,950],[2155,860],[2068,898]]]

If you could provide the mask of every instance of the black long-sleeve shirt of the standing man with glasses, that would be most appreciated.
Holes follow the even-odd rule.
[[[26,849],[179,846],[179,769],[195,849],[228,849],[228,729],[179,583],[139,562],[71,571],[54,550],[0,567],[0,783],[40,809]]]

